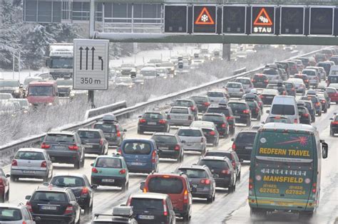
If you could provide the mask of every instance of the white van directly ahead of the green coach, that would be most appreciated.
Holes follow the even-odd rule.
[[[299,123],[299,114],[297,108],[297,102],[293,96],[281,96],[277,95],[272,100],[270,110],[267,110],[269,114],[267,119],[270,117],[276,117],[276,115],[288,117],[292,122]]]

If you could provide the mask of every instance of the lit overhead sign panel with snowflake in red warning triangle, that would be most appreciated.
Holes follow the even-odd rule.
[[[193,33],[216,33],[216,6],[193,7]]]

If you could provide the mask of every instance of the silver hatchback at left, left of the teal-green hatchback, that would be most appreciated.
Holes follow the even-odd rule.
[[[19,149],[11,161],[11,181],[19,178],[41,178],[47,182],[51,176],[53,164],[44,149]]]

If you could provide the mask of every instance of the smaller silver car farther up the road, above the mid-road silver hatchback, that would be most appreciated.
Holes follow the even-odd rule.
[[[190,107],[171,107],[167,116],[171,126],[189,126],[195,116]]]

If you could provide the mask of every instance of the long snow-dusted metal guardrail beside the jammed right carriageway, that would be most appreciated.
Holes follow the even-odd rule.
[[[324,49],[326,49],[326,48],[324,48]],[[323,49],[314,50],[314,51],[312,51],[310,53],[306,53],[304,55],[297,55],[297,56],[292,57],[290,59],[312,55],[312,54],[317,53],[321,50],[323,50]],[[142,102],[142,103],[139,103],[139,104],[134,105],[132,107],[126,107],[126,108],[123,108],[123,109],[120,109],[120,110],[115,110],[115,111],[113,111],[113,113],[116,115],[116,117],[118,119],[130,117],[130,115],[134,114],[135,112],[140,112],[141,110],[145,110],[145,109],[151,108],[151,107],[157,107],[160,103],[166,103],[166,102],[169,102],[171,100],[175,100],[175,99],[180,98],[180,97],[185,97],[187,95],[191,95],[192,93],[196,94],[197,92],[200,92],[200,91],[209,90],[213,87],[217,87],[218,85],[222,85],[224,82],[229,81],[229,80],[233,80],[237,77],[249,76],[249,75],[255,74],[259,70],[262,70],[263,68],[264,67],[255,68],[254,70],[250,70],[250,71],[247,71],[247,72],[244,72],[244,73],[239,73],[237,75],[232,75],[231,77],[222,78],[222,79],[219,79],[219,80],[214,80],[212,82],[208,82],[208,83],[205,83],[203,85],[198,85],[197,87],[191,87],[187,90],[183,90],[183,91],[180,91],[180,92],[174,92],[172,94],[165,95],[163,97],[158,97],[158,98],[155,98],[155,99],[150,100],[148,102]],[[242,69],[243,68],[241,68],[240,70],[242,70]],[[237,70],[234,71],[234,73],[236,73],[236,72],[237,72]],[[78,129],[79,127],[87,127],[87,126],[93,124],[94,122],[96,122],[96,120],[101,119],[102,117],[103,117],[103,114],[98,115],[96,117],[91,117],[91,118],[86,119],[83,122],[78,123],[78,124],[71,125],[69,127],[64,127],[61,130],[71,131],[71,130]],[[24,140],[18,140],[16,142],[11,142],[10,144],[6,144],[5,146],[0,146],[0,158],[1,158],[0,167],[4,166],[6,164],[9,164],[10,163],[10,157],[13,156],[18,149],[20,149],[22,147],[36,146],[36,144],[38,144],[41,141],[41,138],[44,135],[45,134],[40,134],[40,135],[31,137],[31,138],[27,138],[27,139],[24,139]]]

